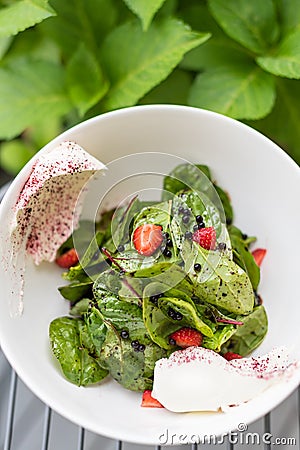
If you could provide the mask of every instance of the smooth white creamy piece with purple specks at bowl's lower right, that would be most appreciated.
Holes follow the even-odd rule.
[[[282,347],[231,361],[213,350],[189,347],[156,362],[152,396],[174,412],[226,410],[288,379],[298,365]]]

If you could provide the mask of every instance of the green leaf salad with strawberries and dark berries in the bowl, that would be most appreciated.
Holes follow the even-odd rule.
[[[160,201],[133,197],[80,222],[57,256],[70,314],[49,327],[65,377],[144,391],[155,362],[189,345],[248,355],[268,326],[254,241],[203,165],[173,169]]]

